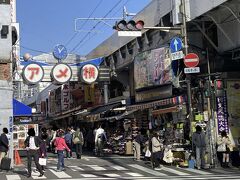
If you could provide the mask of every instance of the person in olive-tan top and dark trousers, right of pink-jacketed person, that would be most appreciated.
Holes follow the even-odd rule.
[[[84,139],[83,139],[83,133],[80,130],[80,128],[77,128],[77,130],[73,134],[73,143],[76,146],[76,156],[77,156],[77,159],[81,159],[82,146],[84,144]]]

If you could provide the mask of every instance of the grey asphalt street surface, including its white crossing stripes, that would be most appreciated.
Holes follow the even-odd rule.
[[[196,170],[164,166],[161,170],[153,170],[146,161],[133,161],[131,157],[111,156],[105,158],[83,156],[81,160],[66,159],[66,170],[56,171],[56,158],[48,160],[48,169],[43,177],[33,172],[27,178],[26,167],[16,167],[14,172],[2,172],[1,180],[21,179],[240,179],[237,168]]]

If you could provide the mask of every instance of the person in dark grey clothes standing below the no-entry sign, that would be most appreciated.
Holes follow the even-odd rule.
[[[196,167],[197,169],[205,168],[205,153],[206,153],[206,136],[202,131],[201,126],[196,126],[196,132],[192,135],[193,145],[196,153]]]

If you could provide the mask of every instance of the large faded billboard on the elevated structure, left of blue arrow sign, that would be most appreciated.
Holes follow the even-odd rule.
[[[166,47],[138,54],[134,59],[135,89],[157,86],[172,81],[169,49]]]

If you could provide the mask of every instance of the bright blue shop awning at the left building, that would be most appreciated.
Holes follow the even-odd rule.
[[[13,99],[13,116],[31,116],[32,108]]]

